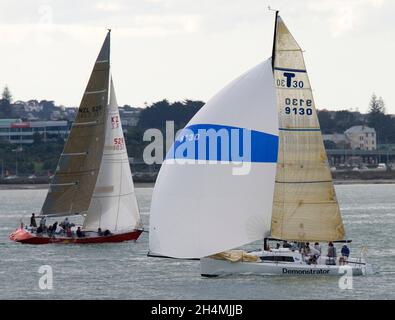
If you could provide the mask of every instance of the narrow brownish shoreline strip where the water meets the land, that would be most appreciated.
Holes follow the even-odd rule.
[[[395,184],[395,179],[347,179],[333,180],[334,185],[353,185],[353,184]],[[155,182],[135,182],[135,188],[153,188]],[[47,183],[16,183],[16,184],[0,184],[0,190],[41,190],[48,189]]]

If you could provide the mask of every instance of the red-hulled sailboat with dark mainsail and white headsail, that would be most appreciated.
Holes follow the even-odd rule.
[[[37,233],[21,224],[10,239],[27,244],[121,242],[137,240],[143,231],[110,73],[110,30],[40,213],[72,215],[84,217],[83,236]]]

